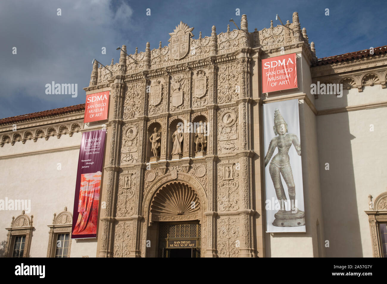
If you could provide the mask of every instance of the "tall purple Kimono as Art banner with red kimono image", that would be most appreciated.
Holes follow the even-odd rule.
[[[72,239],[97,236],[105,137],[104,129],[82,134],[75,184]]]

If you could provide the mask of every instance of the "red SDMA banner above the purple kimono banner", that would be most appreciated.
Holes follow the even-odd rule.
[[[86,96],[84,123],[108,119],[109,93],[105,91]]]

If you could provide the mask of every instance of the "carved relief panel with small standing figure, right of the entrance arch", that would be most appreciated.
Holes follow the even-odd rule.
[[[217,165],[217,209],[220,212],[237,211],[240,208],[239,170],[234,162]]]

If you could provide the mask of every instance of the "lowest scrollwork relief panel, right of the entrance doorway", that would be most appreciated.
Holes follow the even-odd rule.
[[[221,216],[217,219],[217,255],[238,257],[239,217]]]

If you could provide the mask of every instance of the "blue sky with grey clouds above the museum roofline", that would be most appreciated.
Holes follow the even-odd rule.
[[[368,3],[372,3],[368,4]],[[57,9],[62,15],[57,15]],[[146,9],[151,15],[146,15]],[[246,14],[248,30],[292,21],[298,12],[301,28],[315,42],[322,58],[387,44],[385,1],[110,1],[64,0],[0,2],[0,118],[82,104],[89,85],[92,59],[105,65],[119,59],[117,46],[128,53],[168,45],[169,32],[180,20],[194,27],[194,38],[224,32],[233,18],[240,25]],[[325,16],[325,9],[329,16]],[[12,48],[17,54],[12,54]],[[106,47],[106,54],[101,48]],[[78,96],[47,95],[47,83],[77,83]]]

